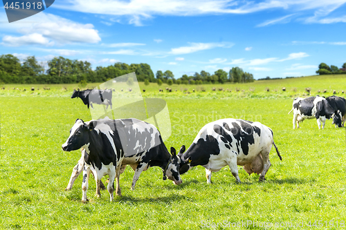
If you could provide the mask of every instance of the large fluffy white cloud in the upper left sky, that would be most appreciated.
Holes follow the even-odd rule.
[[[33,44],[47,46],[53,42],[71,44],[98,43],[101,41],[98,30],[95,30],[92,24],[82,24],[44,12],[33,15],[30,19],[22,19],[21,23],[11,23],[11,26],[12,28],[9,28],[6,23],[0,23],[0,29],[15,30],[15,32],[23,35],[20,37],[3,37],[3,43],[11,46]]]

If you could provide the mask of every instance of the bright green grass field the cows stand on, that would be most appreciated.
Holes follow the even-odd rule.
[[[80,99],[69,98],[76,85],[51,85],[51,90],[41,85],[35,91],[28,90],[31,85],[4,87],[0,90],[0,229],[232,229],[237,222],[249,223],[237,229],[259,229],[253,222],[286,223],[280,229],[297,229],[287,224],[300,223],[310,229],[307,224],[316,228],[313,224],[318,226],[319,220],[320,229],[345,227],[345,128],[334,128],[329,120],[324,130],[318,130],[316,119],[311,119],[293,130],[292,115],[287,115],[292,98],[307,96],[307,87],[310,95],[327,89],[319,94],[329,96],[337,90],[343,96],[345,75],[217,86],[140,83],[146,89],[144,97],[167,102],[172,123],[167,148],[190,146],[202,126],[233,117],[271,127],[283,160],[275,149],[271,151],[266,182],[258,182],[258,175],[249,176],[239,166],[242,184],[235,183],[228,167],[213,173],[213,184],[206,184],[205,170],[197,166],[181,176],[183,184],[175,186],[163,181],[162,170],[154,167],[142,173],[134,191],[130,190],[134,173],[127,167],[120,175],[122,197],[111,203],[109,193],[101,191],[102,197],[96,198],[91,178],[87,204],[81,202],[82,177],[71,191],[64,191],[80,151],[67,153],[61,145],[75,119],[91,119]],[[158,93],[158,88],[166,87],[173,92]],[[218,90],[221,87],[225,91]],[[218,222],[223,224],[217,226]]]

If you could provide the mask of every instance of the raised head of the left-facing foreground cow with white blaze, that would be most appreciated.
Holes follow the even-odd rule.
[[[62,144],[63,151],[73,151],[88,147],[89,132],[93,129],[93,122],[85,124],[82,119],[76,119],[75,124],[70,129],[70,136],[67,138],[66,142]]]

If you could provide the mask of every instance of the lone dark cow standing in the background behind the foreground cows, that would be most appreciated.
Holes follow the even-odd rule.
[[[107,106],[111,104],[111,96],[112,96],[112,91],[109,90],[98,90],[98,89],[93,89],[93,90],[73,90],[71,98],[75,97],[80,97],[82,99],[83,103],[86,104],[89,108],[89,105],[91,108],[93,108],[93,103],[95,104],[104,104]],[[106,108],[106,109],[107,109]]]

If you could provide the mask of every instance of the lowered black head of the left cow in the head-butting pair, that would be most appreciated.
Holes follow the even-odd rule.
[[[180,167],[180,158],[176,155],[175,148],[171,147],[170,161],[168,162],[166,169],[163,171],[163,180],[167,178],[173,180],[174,184],[178,185],[183,182],[180,178],[179,167]]]

